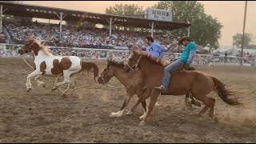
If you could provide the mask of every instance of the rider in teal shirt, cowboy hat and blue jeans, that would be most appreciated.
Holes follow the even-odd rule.
[[[174,70],[181,68],[184,64],[185,66],[190,66],[194,55],[196,54],[197,46],[193,42],[193,40],[189,37],[183,37],[178,42],[178,45],[186,46],[183,50],[181,56],[177,58],[174,62],[170,63],[170,65],[166,66],[164,76],[162,78],[162,85],[155,87],[157,90],[168,90],[168,84],[170,82],[170,73]]]

